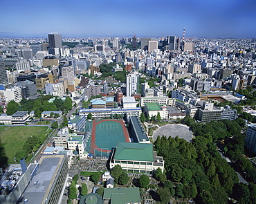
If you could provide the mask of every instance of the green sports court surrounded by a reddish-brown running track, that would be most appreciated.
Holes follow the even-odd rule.
[[[130,142],[122,120],[93,120],[91,138],[87,144],[93,156],[108,156],[118,142]]]

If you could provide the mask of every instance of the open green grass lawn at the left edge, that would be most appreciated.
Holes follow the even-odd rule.
[[[51,130],[48,127],[0,127],[0,160],[3,156],[8,163],[15,163],[15,153],[21,151],[26,139],[32,136],[45,136]],[[46,132],[47,131],[47,132]],[[0,161],[1,162],[1,161]],[[19,163],[19,161],[17,161]]]

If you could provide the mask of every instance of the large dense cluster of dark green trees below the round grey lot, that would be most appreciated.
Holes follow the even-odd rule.
[[[228,195],[238,182],[237,174],[212,144],[210,136],[196,136],[196,141],[186,142],[178,137],[158,137],[154,143],[157,154],[163,156],[167,179],[164,187],[179,198],[194,198],[197,203],[228,203]],[[160,172],[158,172],[158,179]],[[223,187],[220,196],[212,196]],[[206,199],[205,196],[208,196]]]

